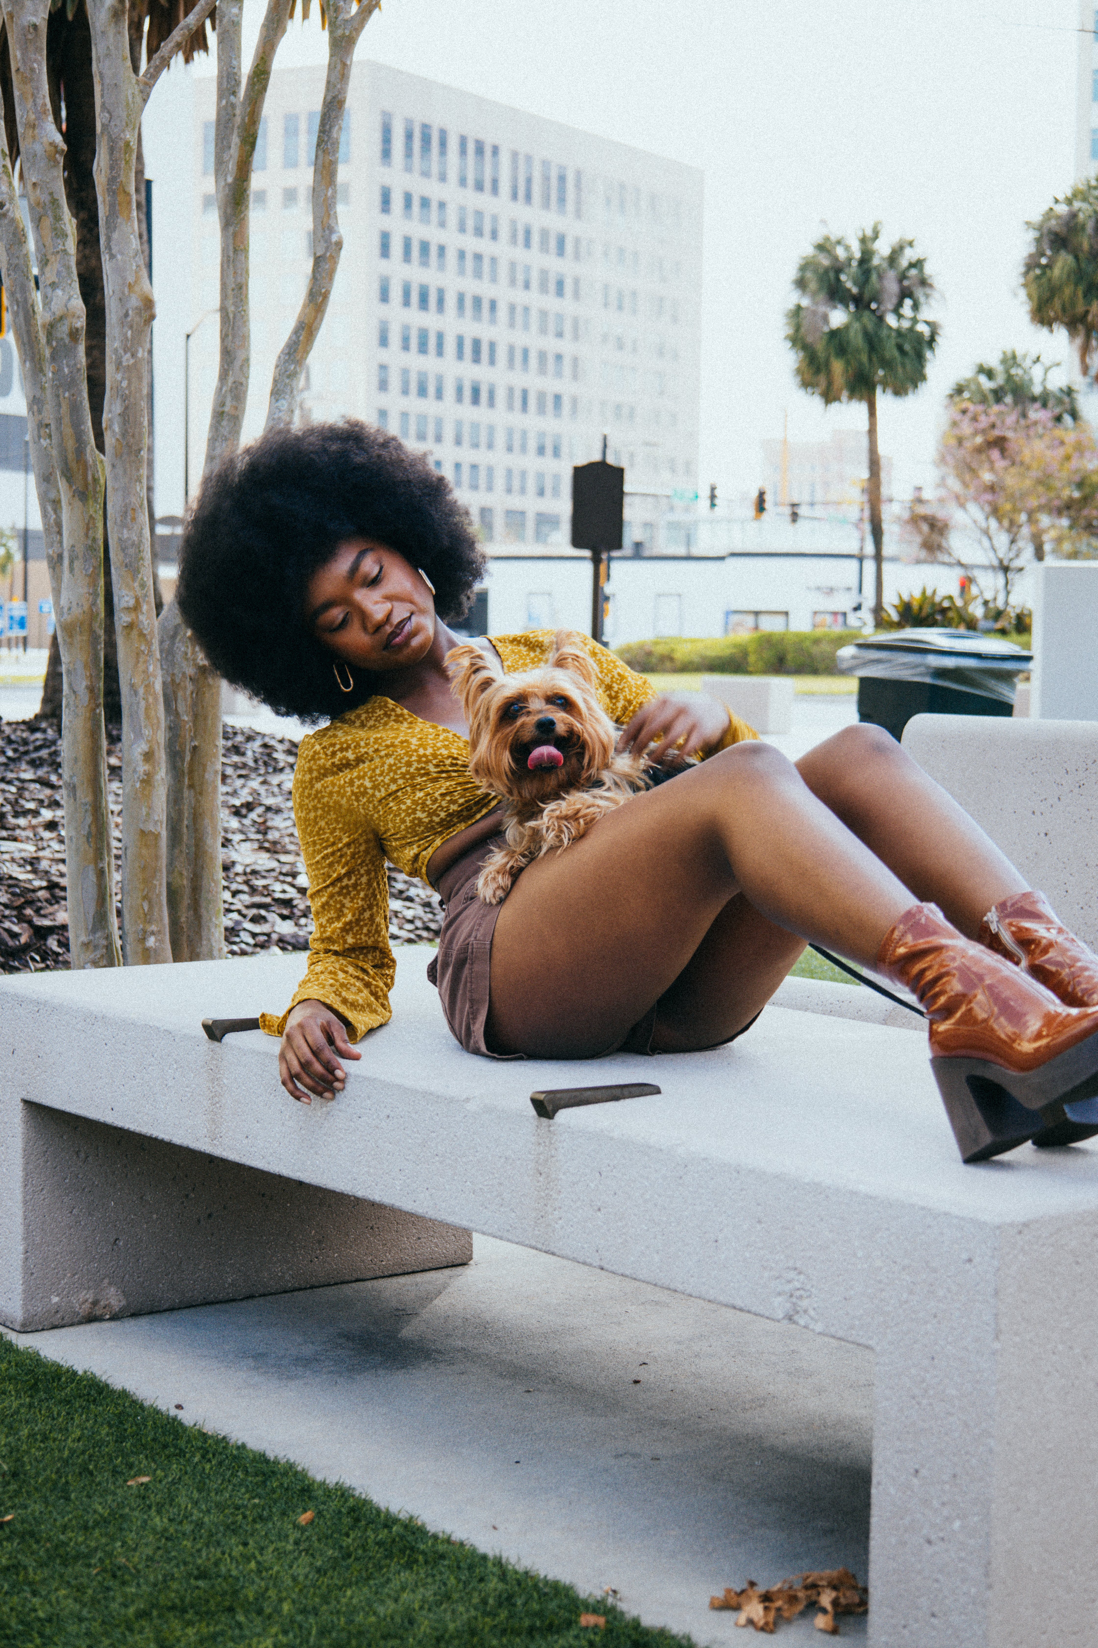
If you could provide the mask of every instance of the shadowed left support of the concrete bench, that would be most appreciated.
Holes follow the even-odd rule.
[[[453,1224],[40,1104],[16,1109],[0,1152],[0,1322],[25,1333],[472,1257]]]

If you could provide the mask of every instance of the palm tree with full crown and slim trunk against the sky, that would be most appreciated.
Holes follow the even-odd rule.
[[[884,526],[877,391],[909,396],[927,377],[938,326],[922,316],[933,297],[925,259],[914,241],[877,247],[881,224],[863,229],[858,246],[825,234],[793,277],[805,300],[785,316],[785,338],[797,356],[797,379],[825,405],[864,400],[869,417],[869,529],[876,565],[872,621],[884,618]]]

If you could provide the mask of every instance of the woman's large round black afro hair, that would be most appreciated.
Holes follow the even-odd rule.
[[[333,656],[305,625],[309,578],[349,537],[421,567],[435,608],[459,620],[484,572],[468,511],[426,458],[346,419],[273,428],[206,480],[183,532],[176,600],[212,667],[280,715],[326,720],[370,694],[344,694]]]

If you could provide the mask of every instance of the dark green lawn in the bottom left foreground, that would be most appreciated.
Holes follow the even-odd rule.
[[[0,1337],[5,1516],[18,1648],[688,1645]]]

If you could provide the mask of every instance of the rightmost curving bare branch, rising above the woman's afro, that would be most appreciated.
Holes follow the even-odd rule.
[[[328,76],[316,133],[316,158],[313,163],[313,267],[298,318],[283,343],[270,386],[267,428],[288,424],[298,400],[298,386],[305,363],[316,343],[328,300],[339,269],[342,236],[339,232],[337,183],[339,183],[339,133],[342,130],[347,91],[351,86],[351,61],[362,30],[379,10],[380,0],[329,0],[328,7]]]

